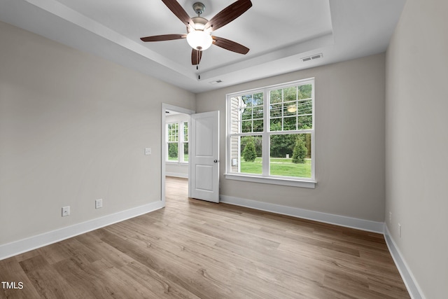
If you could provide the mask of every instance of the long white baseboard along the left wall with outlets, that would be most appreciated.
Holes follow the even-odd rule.
[[[90,232],[113,223],[124,221],[129,218],[140,216],[142,214],[155,211],[164,207],[164,203],[160,200],[158,202],[152,202],[150,204],[144,204],[140,207],[134,207],[125,211],[119,211],[115,214],[106,215],[100,218],[95,218],[90,221],[78,223],[75,225],[67,226],[65,228],[59,228],[50,232],[44,232],[41,235],[28,237],[8,244],[0,245],[0,260],[10,258],[11,256],[18,255],[33,249],[38,249],[42,246],[46,246],[55,242],[69,239],[76,235]]]

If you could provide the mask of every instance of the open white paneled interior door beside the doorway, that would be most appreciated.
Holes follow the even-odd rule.
[[[190,197],[219,202],[219,111],[191,115]]]

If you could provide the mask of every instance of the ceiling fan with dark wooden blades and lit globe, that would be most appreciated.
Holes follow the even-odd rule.
[[[245,13],[252,6],[251,0],[238,0],[230,6],[224,8],[211,20],[202,18],[205,6],[200,2],[193,4],[193,9],[197,17],[190,18],[188,13],[176,0],[162,0],[162,2],[176,15],[179,20],[187,26],[187,34],[164,34],[142,37],[142,41],[172,41],[174,39],[187,39],[188,44],[193,48],[191,53],[191,64],[198,65],[201,61],[202,51],[207,50],[212,44],[230,50],[235,53],[246,54],[249,49],[235,41],[212,36],[211,32],[227,25],[240,15]]]

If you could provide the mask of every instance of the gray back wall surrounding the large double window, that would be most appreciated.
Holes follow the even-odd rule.
[[[316,189],[231,181],[221,195],[384,221],[384,54],[297,71],[197,95],[196,111],[221,111],[225,161],[225,95],[315,77]],[[225,163],[221,163],[222,173]]]

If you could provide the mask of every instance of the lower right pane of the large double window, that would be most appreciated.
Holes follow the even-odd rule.
[[[311,134],[272,134],[269,174],[311,178]]]

